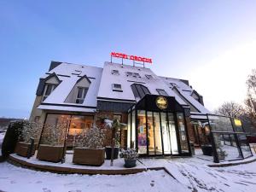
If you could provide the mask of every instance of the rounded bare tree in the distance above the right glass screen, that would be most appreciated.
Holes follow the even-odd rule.
[[[240,118],[244,114],[244,108],[236,102],[224,102],[222,106],[214,110],[214,113],[232,118]]]

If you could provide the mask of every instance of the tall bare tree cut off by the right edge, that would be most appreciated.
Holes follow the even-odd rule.
[[[246,113],[254,126],[256,126],[256,69],[247,79],[247,98],[245,100]]]

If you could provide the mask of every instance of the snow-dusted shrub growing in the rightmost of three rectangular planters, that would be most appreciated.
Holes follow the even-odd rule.
[[[84,129],[76,139],[76,146],[80,148],[102,148],[105,139],[104,129],[93,126],[90,129]]]

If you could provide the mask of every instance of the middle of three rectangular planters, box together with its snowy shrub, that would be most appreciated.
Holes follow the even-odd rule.
[[[38,148],[38,160],[60,162],[64,157],[64,143],[67,131],[67,121],[62,120],[57,125],[44,125],[44,132]]]

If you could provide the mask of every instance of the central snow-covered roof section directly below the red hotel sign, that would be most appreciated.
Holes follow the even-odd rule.
[[[113,70],[118,70],[119,75],[112,74]],[[139,73],[140,78],[127,76],[126,73]],[[153,78],[148,79],[146,75],[151,75]],[[112,84],[121,84],[122,92],[113,91]],[[103,72],[102,72],[102,80],[98,93],[99,98],[110,98],[110,99],[119,99],[119,100],[131,100],[136,101],[135,96],[131,90],[131,84],[143,84],[149,90],[149,92],[153,95],[159,95],[157,89],[166,90],[166,93],[169,96],[175,96],[177,102],[181,105],[186,105],[183,100],[169,89],[167,84],[164,84],[163,81],[154,74],[151,69],[145,67],[133,67],[127,65],[120,65],[118,63],[110,63],[105,62]]]

